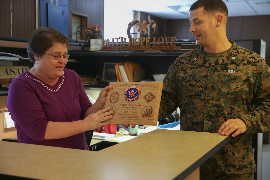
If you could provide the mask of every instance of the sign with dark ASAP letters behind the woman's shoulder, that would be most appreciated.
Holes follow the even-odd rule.
[[[0,66],[0,79],[16,78],[27,69],[29,66]]]

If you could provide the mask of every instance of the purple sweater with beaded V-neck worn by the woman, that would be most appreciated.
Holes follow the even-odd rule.
[[[27,71],[16,77],[8,90],[7,107],[15,122],[18,142],[85,149],[85,132],[62,139],[44,140],[49,121],[71,122],[84,118],[92,106],[79,75],[64,69],[54,86]]]

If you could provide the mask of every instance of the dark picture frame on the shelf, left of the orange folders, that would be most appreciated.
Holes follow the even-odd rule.
[[[115,62],[104,62],[102,80],[106,82],[117,82]]]

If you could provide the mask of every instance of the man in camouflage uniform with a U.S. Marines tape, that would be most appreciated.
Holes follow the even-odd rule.
[[[254,179],[251,136],[269,131],[270,68],[226,36],[222,0],[190,8],[190,32],[201,47],[179,56],[163,82],[159,117],[180,107],[181,130],[232,139],[200,167],[200,179]]]

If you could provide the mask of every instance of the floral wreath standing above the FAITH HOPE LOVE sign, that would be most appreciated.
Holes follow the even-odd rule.
[[[146,29],[149,28],[150,24],[152,25],[152,28],[154,28],[153,34],[150,35],[150,42],[151,42],[153,40],[153,37],[156,37],[158,34],[157,24],[155,23],[155,21],[151,19],[146,19],[143,21],[143,23],[141,23],[141,21],[138,20],[130,22],[129,26],[127,27],[127,36],[131,38],[130,29],[133,25],[136,25],[136,28],[138,28],[138,32],[146,34],[147,33]]]

